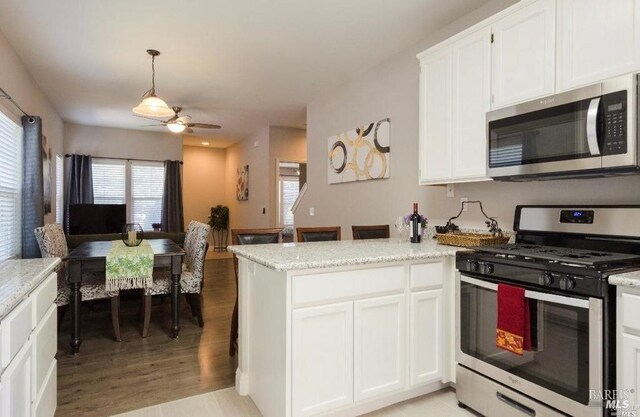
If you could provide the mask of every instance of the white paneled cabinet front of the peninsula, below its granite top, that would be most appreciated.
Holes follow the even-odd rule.
[[[291,416],[347,413],[442,380],[441,261],[293,279]]]

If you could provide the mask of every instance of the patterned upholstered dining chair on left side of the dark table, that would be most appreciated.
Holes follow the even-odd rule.
[[[42,227],[36,227],[34,230],[40,254],[43,258],[64,258],[69,254],[67,240],[62,230],[62,226],[58,223],[45,224]],[[56,267],[58,274],[58,295],[55,303],[58,308],[58,328],[64,314],[69,305],[70,290],[69,281],[67,279],[67,265],[61,262]],[[113,334],[115,339],[120,342],[120,293],[118,291],[107,291],[104,274],[96,272],[85,272],[82,274],[82,286],[80,287],[82,301],[100,300],[105,298],[111,299],[111,322],[113,324]]]

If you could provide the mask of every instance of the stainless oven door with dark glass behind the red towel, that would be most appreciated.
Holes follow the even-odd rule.
[[[460,274],[457,360],[486,377],[570,415],[602,416],[589,390],[603,385],[602,300],[566,297],[529,287],[530,352],[496,347],[496,282]]]

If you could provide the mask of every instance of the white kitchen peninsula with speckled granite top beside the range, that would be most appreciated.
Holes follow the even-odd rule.
[[[264,416],[361,414],[452,380],[457,248],[375,239],[229,250],[236,389]]]

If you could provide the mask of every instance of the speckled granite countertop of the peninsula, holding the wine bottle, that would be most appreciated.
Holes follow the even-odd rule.
[[[397,238],[235,245],[227,249],[276,271],[439,258],[463,250],[440,245],[431,239],[409,243],[399,242]]]

